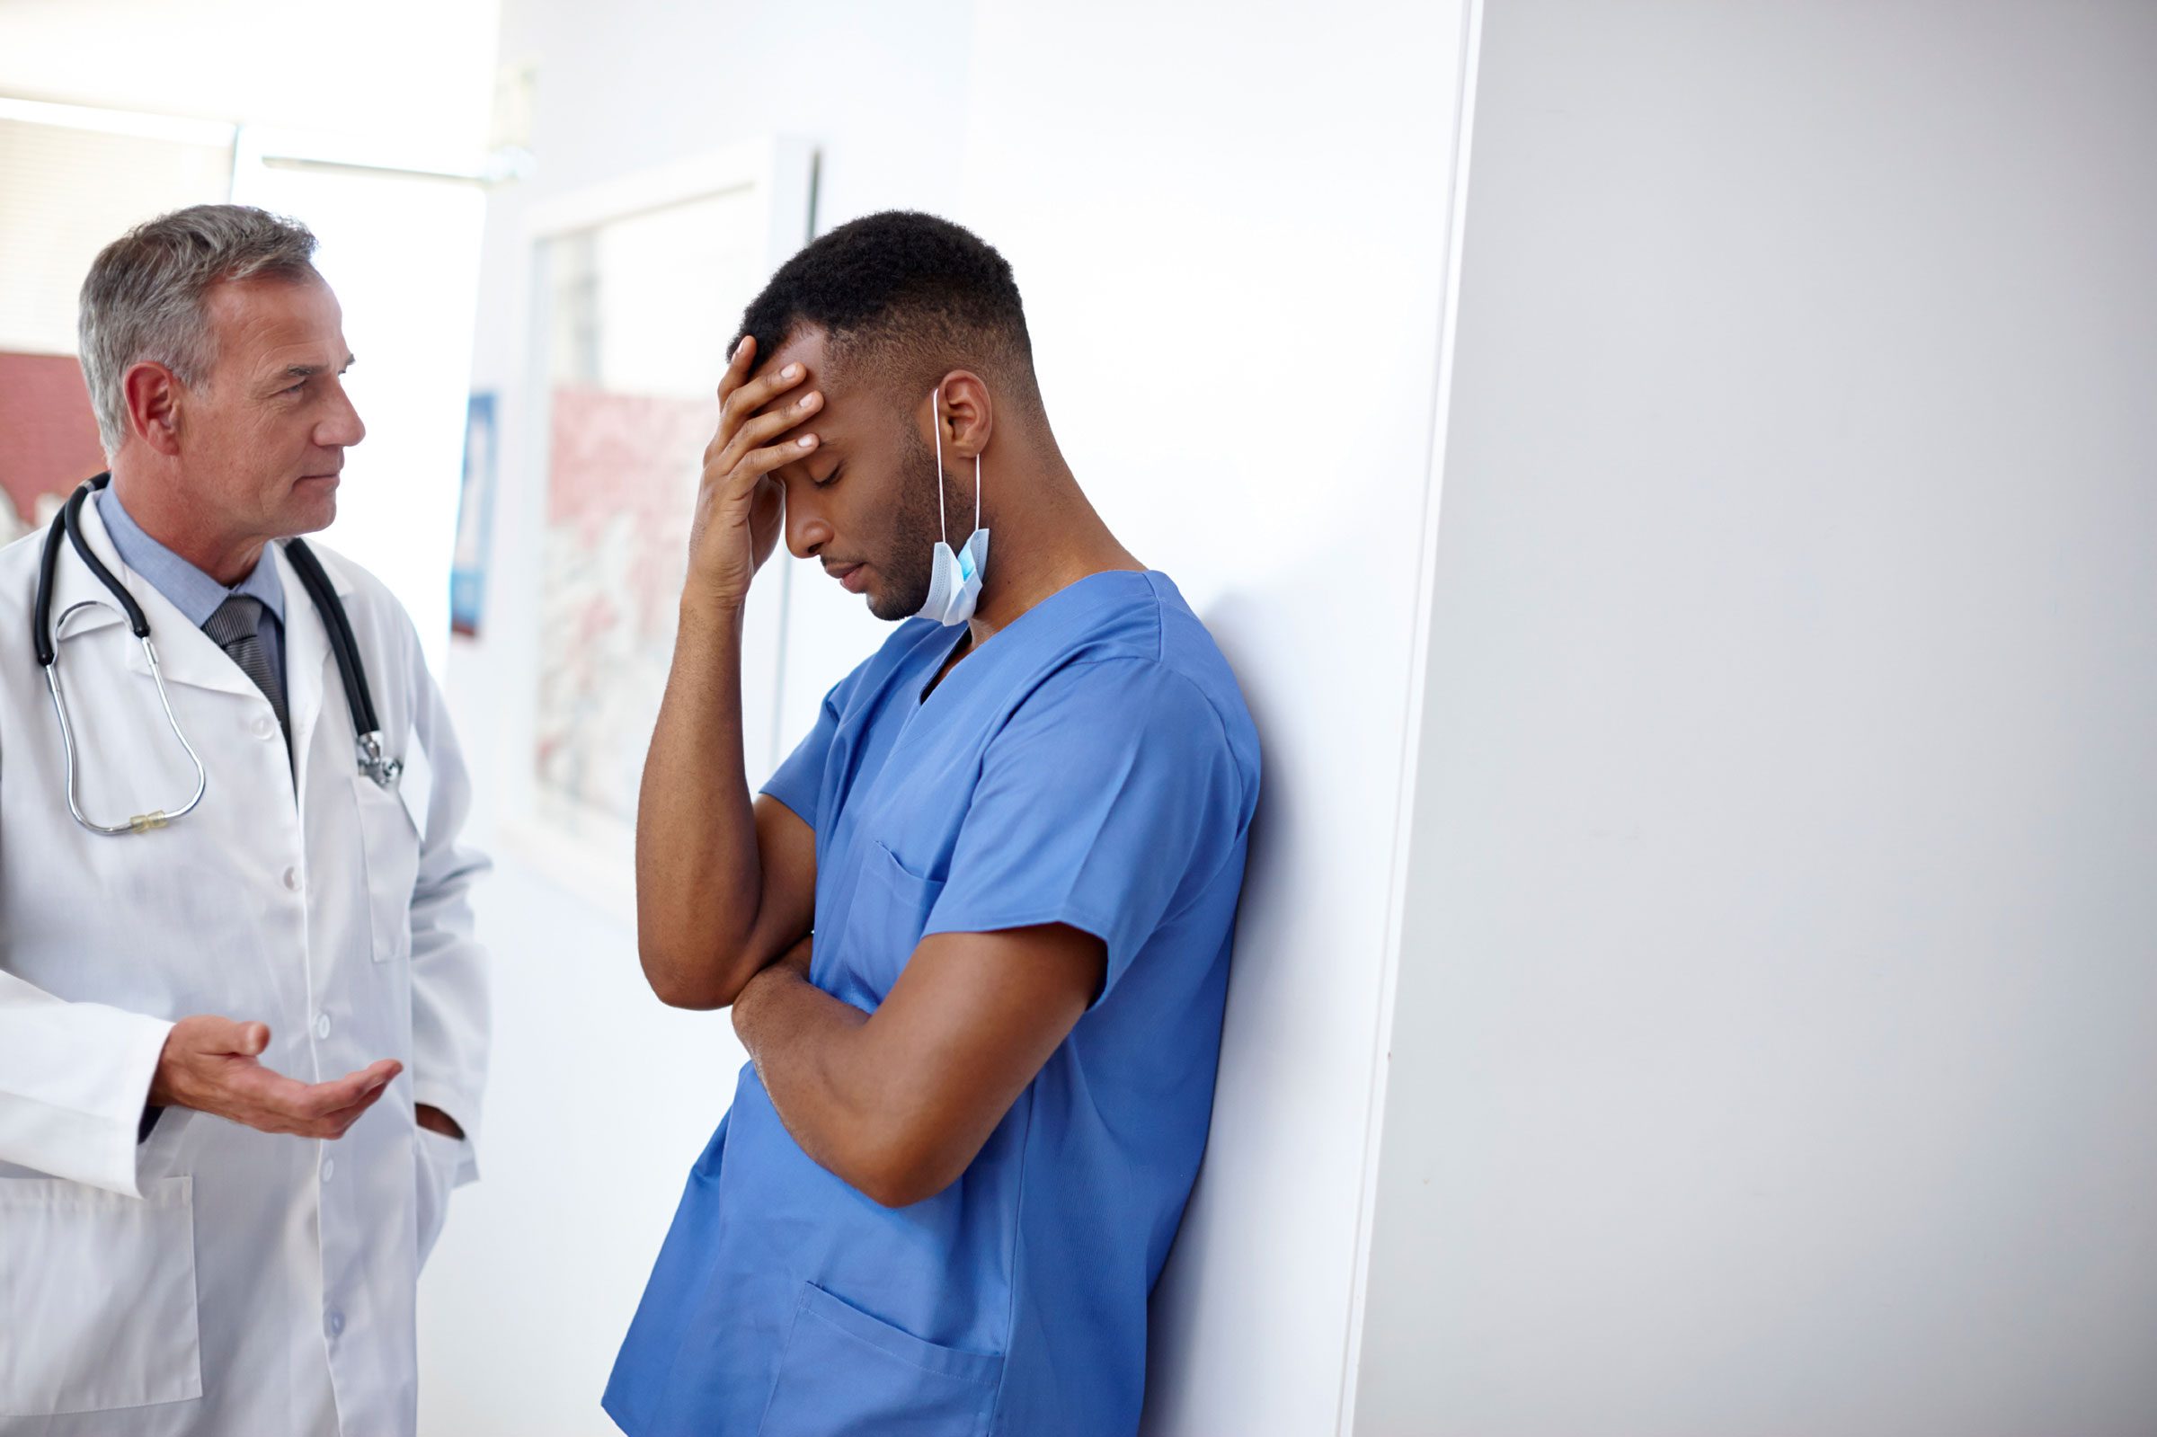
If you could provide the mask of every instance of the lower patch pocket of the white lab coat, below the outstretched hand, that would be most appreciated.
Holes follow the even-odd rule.
[[[194,1178],[0,1180],[0,1415],[203,1396]]]

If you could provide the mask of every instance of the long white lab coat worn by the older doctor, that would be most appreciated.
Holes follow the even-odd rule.
[[[283,550],[287,766],[270,701],[147,580],[97,505],[84,537],[151,621],[209,770],[173,826],[67,813],[30,643],[41,533],[0,550],[0,1435],[410,1435],[414,1282],[472,1150],[487,1053],[457,831],[470,785],[418,639],[377,578],[317,546],[352,615],[403,796],[354,764],[328,632]],[[179,807],[194,770],[142,647],[63,546],[54,617],[84,813]],[[296,792],[298,790],[298,792]],[[166,1029],[259,1018],[302,1079],[406,1072],[339,1141],[168,1109],[136,1144]],[[431,1103],[466,1131],[418,1128]]]

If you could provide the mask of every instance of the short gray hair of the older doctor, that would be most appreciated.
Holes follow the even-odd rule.
[[[218,362],[203,313],[209,287],[259,274],[319,280],[313,231],[252,205],[192,205],[136,224],[97,252],[82,280],[78,334],[106,455],[127,438],[127,369],[151,360],[203,384]]]

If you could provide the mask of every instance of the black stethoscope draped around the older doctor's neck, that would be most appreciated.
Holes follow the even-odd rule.
[[[123,833],[149,833],[151,829],[164,829],[175,818],[186,818],[194,811],[194,805],[203,800],[203,792],[209,788],[209,775],[203,770],[203,759],[196,757],[194,744],[188,736],[179,731],[179,718],[173,716],[173,699],[164,690],[164,669],[157,667],[157,645],[149,641],[149,617],[142,606],[134,602],[127,593],[127,585],[112,576],[112,570],[91,552],[91,546],[82,539],[82,501],[93,492],[106,488],[112,475],[97,475],[86,479],[60,511],[52,520],[52,529],[45,531],[45,552],[37,567],[37,604],[30,617],[30,639],[37,643],[37,665],[45,671],[45,688],[52,690],[52,712],[60,718],[60,747],[67,751],[67,811],[75,816],[75,822],[91,833],[104,833],[108,837],[119,837]],[[127,628],[134,630],[136,641],[142,645],[142,658],[149,660],[149,675],[157,684],[157,703],[164,708],[164,721],[173,729],[173,738],[179,740],[181,751],[188,762],[194,764],[194,796],[181,807],[151,809],[149,813],[136,813],[123,824],[99,824],[82,813],[82,805],[75,798],[75,729],[67,721],[67,695],[60,688],[60,630],[67,621],[82,608],[110,608],[104,600],[82,600],[69,606],[58,624],[52,619],[52,574],[60,563],[60,535],[75,546],[75,555],[88,565],[91,574],[112,591],[112,598],[121,602],[121,613],[127,617]],[[300,539],[285,539],[285,557],[291,559],[293,572],[300,576],[300,585],[306,596],[315,602],[315,613],[321,615],[321,626],[330,630],[330,654],[336,656],[336,673],[345,680],[345,703],[352,708],[352,731],[358,734],[358,762],[360,772],[380,783],[386,790],[397,788],[397,777],[403,772],[403,762],[386,757],[382,753],[382,727],[375,723],[375,697],[367,686],[367,669],[360,665],[360,645],[352,637],[352,619],[345,617],[345,606],[336,598],[336,589],[330,585],[330,576],[321,572],[321,561],[315,559],[311,550]]]

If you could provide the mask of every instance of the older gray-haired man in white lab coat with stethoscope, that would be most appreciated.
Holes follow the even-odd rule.
[[[414,1431],[414,1282],[477,1172],[485,865],[410,619],[328,550],[317,602],[278,544],[365,436],[313,248],[203,205],[84,283],[112,479],[78,537],[157,662],[75,544],[50,624],[43,535],[0,550],[4,1435]],[[339,606],[401,777],[356,751]]]

